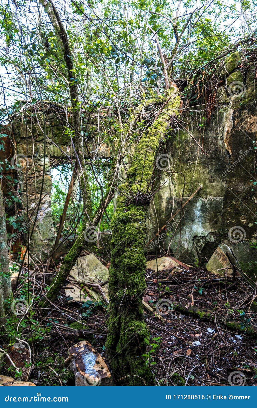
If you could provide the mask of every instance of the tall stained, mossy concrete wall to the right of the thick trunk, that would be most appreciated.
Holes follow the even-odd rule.
[[[251,65],[243,80],[238,55],[225,63],[231,77],[225,78],[225,84],[218,89],[217,108],[204,132],[194,116],[183,113],[184,122],[189,123],[187,128],[208,155],[186,131],[180,130],[176,136],[171,134],[165,150],[160,152],[172,157],[169,173],[156,169],[155,188],[163,186],[150,206],[147,241],[202,186],[170,222],[159,241],[147,248],[155,253],[156,246],[158,252],[170,246],[171,255],[189,264],[195,259],[206,264],[217,246],[228,239],[231,228],[232,231],[235,227],[242,228],[240,241],[252,241],[257,237],[256,187],[253,184],[256,181],[255,72]],[[240,79],[243,93],[233,95],[233,81],[240,82]],[[232,88],[229,90],[228,86]]]

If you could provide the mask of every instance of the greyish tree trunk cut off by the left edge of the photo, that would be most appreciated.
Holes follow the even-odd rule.
[[[11,280],[9,271],[9,257],[7,246],[7,235],[5,225],[5,212],[3,204],[2,189],[0,186],[0,317],[6,313],[4,300],[12,296]]]

